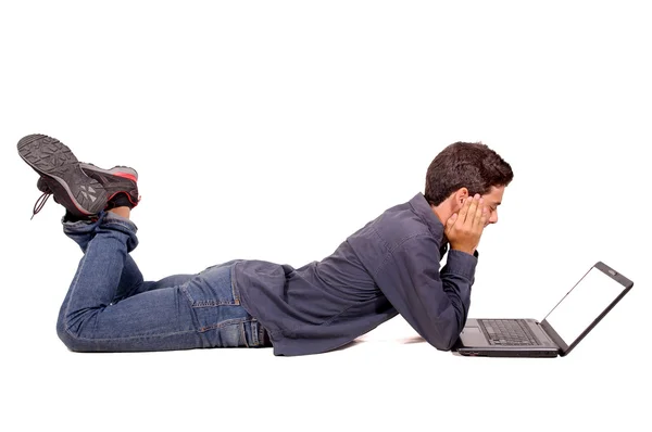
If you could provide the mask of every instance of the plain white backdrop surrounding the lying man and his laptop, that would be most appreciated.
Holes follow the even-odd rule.
[[[644,4],[3,1],[0,429],[649,424]],[[315,356],[73,354],[54,323],[80,252],[52,201],[29,220],[37,175],[15,144],[36,132],[138,169],[147,279],[321,259],[423,191],[432,157],[465,140],[515,173],[471,316],[542,318],[597,261],[635,288],[556,359],[460,358],[401,318]]]

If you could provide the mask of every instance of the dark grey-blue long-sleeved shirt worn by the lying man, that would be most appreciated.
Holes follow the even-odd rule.
[[[446,253],[443,225],[422,193],[385,211],[333,255],[294,269],[262,261],[233,267],[242,306],[269,332],[275,355],[337,348],[401,314],[448,351],[464,328],[476,256]]]

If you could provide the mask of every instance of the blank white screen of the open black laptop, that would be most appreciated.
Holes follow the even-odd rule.
[[[591,267],[544,320],[566,345],[572,346],[623,291],[626,287],[601,269]]]

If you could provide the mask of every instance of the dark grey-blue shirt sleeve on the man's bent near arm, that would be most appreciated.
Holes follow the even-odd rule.
[[[377,283],[421,336],[449,351],[466,323],[477,254],[451,250],[439,271],[439,250],[431,237],[406,240],[380,268]]]

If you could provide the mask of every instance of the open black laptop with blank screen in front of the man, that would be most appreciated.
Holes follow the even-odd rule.
[[[539,322],[467,319],[453,353],[488,357],[565,356],[629,292],[634,282],[595,263]]]

